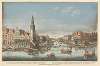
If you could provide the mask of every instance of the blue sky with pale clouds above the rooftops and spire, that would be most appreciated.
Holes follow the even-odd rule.
[[[3,3],[3,22],[9,28],[29,31],[32,16],[38,34],[61,36],[97,29],[97,3]]]

